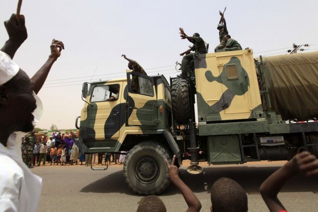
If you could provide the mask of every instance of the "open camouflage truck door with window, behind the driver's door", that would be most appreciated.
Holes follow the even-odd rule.
[[[127,124],[130,126],[158,125],[157,94],[154,78],[127,70]],[[134,78],[134,84],[131,83]]]

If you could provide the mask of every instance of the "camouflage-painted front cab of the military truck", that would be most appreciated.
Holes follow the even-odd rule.
[[[127,70],[127,72],[132,71]],[[127,83],[127,79],[96,82],[97,86],[120,85],[119,98],[112,102],[90,102],[95,85],[90,87],[86,98],[89,104],[85,103],[80,118],[77,145],[81,151],[93,153],[129,150],[122,149],[121,145],[130,135],[163,134],[165,127],[171,124],[167,123],[168,119],[164,115],[167,113],[166,110],[171,111],[170,90],[163,75],[156,75],[153,78],[156,81],[156,85],[152,87],[153,96],[129,92],[128,84],[132,83]],[[162,107],[164,104],[166,106]],[[140,140],[135,139],[133,142],[137,144]],[[174,153],[181,160],[177,145],[171,145],[174,146]]]

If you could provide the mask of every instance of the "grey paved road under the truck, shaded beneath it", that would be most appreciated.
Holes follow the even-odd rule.
[[[179,173],[201,201],[201,212],[210,211],[210,189],[221,176],[236,180],[246,190],[249,212],[267,212],[258,188],[282,164],[203,166],[200,175],[188,174],[184,166]],[[106,171],[92,171],[86,166],[45,166],[33,168],[32,172],[43,178],[39,212],[134,212],[142,198],[128,189],[122,166],[118,165]],[[168,212],[187,209],[182,195],[172,184],[159,197]],[[289,212],[318,212],[318,179],[303,176],[291,179],[283,187],[279,199]]]

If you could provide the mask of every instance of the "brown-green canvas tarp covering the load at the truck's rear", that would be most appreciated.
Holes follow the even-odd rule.
[[[283,120],[318,119],[318,52],[263,57],[272,110]]]

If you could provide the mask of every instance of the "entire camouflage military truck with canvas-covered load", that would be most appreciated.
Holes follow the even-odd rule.
[[[318,155],[317,52],[257,60],[251,49],[197,54],[195,77],[170,82],[126,72],[126,79],[83,84],[76,144],[85,153],[127,151],[124,178],[137,194],[167,188],[164,159],[173,155],[177,166],[191,160],[192,174],[202,172],[200,163],[289,160],[301,150]],[[118,99],[107,101],[114,93]]]

